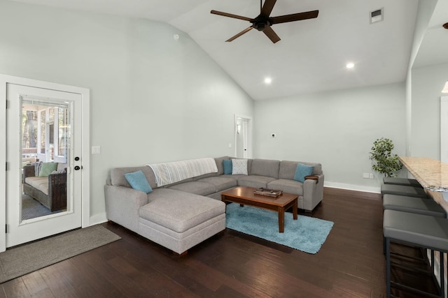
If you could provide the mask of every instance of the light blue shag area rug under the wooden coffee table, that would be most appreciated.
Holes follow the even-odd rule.
[[[319,218],[285,213],[285,232],[279,232],[279,215],[275,211],[228,204],[225,214],[227,228],[278,244],[295,248],[305,253],[317,253],[334,223]]]

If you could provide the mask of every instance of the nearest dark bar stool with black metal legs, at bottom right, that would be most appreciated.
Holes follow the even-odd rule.
[[[386,242],[386,295],[391,297],[391,286],[396,285],[419,295],[430,293],[391,281],[391,241],[440,252],[440,297],[444,298],[444,255],[448,253],[448,218],[384,210],[383,233]],[[433,272],[432,272],[433,274]]]

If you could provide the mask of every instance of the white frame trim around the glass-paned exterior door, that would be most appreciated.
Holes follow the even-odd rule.
[[[0,252],[6,251],[6,85],[18,84],[42,89],[80,94],[83,175],[81,179],[81,227],[90,225],[90,89],[0,74]]]

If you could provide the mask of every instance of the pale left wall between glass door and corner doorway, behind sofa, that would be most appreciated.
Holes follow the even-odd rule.
[[[232,155],[234,114],[253,115],[253,100],[167,24],[0,0],[0,28],[0,73],[91,90],[92,216],[104,215],[112,167]]]

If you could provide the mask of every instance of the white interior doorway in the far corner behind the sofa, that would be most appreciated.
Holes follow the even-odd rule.
[[[252,158],[252,117],[235,115],[235,157]]]

